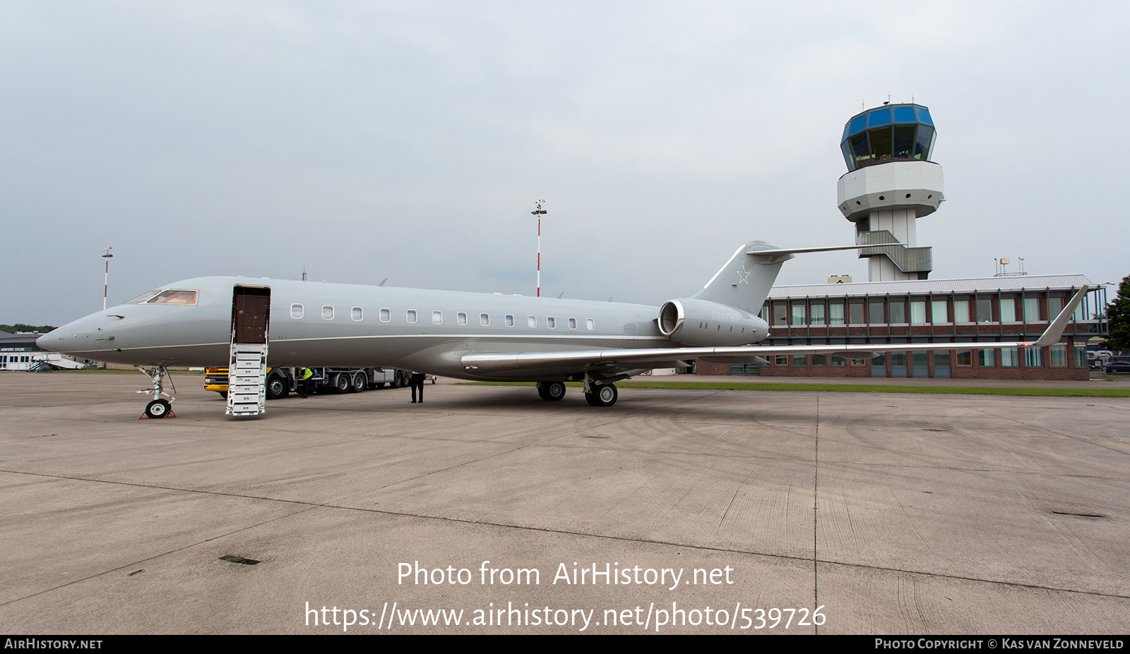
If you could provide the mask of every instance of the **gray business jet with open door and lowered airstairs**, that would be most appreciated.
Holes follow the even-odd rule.
[[[90,314],[38,339],[40,347],[149,375],[151,417],[166,415],[166,366],[237,367],[240,347],[258,347],[251,368],[389,367],[462,380],[537,382],[560,400],[566,381],[584,382],[594,407],[616,402],[615,383],[685,361],[767,363],[775,355],[872,358],[903,345],[757,346],[768,324],[757,314],[782,263],[800,252],[762,241],[739,247],[695,295],[662,306],[199,277]],[[1045,347],[1058,342],[1086,295],[1080,289],[1033,342],[914,343],[915,350]],[[260,393],[261,394],[261,393]],[[262,412],[262,404],[258,412]],[[231,403],[229,403],[229,413]]]

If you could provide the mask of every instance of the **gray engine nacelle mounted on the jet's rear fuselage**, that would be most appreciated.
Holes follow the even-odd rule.
[[[770,333],[760,317],[705,299],[671,299],[659,307],[659,331],[672,341],[698,348],[756,343]]]

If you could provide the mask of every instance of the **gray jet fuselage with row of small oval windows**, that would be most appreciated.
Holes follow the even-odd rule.
[[[40,346],[98,361],[223,366],[236,286],[270,289],[268,359],[277,367],[395,367],[466,380],[539,381],[544,372],[480,374],[461,357],[672,345],[657,326],[655,306],[201,277],[162,287],[198,291],[194,304],[116,305],[59,328]]]

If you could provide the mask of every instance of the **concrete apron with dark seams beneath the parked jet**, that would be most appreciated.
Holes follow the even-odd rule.
[[[174,381],[0,374],[6,633],[1130,631],[1130,399]]]

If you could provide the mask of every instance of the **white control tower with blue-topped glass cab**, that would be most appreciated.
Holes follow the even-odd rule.
[[[868,281],[925,279],[933,270],[931,248],[918,246],[915,220],[945,199],[941,166],[930,160],[935,137],[930,111],[918,104],[884,103],[844,125],[840,211],[855,224],[857,244],[902,244],[860,251]]]

